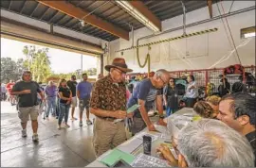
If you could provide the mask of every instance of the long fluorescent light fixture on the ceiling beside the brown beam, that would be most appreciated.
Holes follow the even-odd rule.
[[[155,26],[149,19],[147,19],[142,13],[140,13],[136,8],[131,6],[128,1],[116,0],[121,8],[124,8],[128,13],[134,16],[141,24],[146,25],[155,32],[160,31],[160,29]]]

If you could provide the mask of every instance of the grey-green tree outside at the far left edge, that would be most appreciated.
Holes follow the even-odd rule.
[[[1,58],[1,82],[17,81],[25,69],[23,59],[14,61],[11,58]]]

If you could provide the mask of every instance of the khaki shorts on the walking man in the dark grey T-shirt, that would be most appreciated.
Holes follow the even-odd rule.
[[[26,123],[29,120],[29,115],[32,121],[37,120],[39,115],[39,106],[26,108],[19,107],[19,118],[21,119],[21,123]]]

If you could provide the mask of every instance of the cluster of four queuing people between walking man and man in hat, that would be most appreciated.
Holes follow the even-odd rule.
[[[57,87],[53,81],[49,81],[46,86],[46,119],[48,120],[49,113],[58,119],[58,128],[61,129],[64,118],[64,126],[67,124],[69,117],[69,109],[71,108],[71,120],[76,121],[74,116],[75,109],[78,105],[80,110],[80,123],[82,126],[82,113],[86,109],[86,124],[92,125],[89,119],[89,99],[92,91],[92,84],[87,81],[87,74],[82,74],[82,81],[78,83],[76,76],[71,76],[71,79],[66,81],[62,79]],[[57,110],[56,110],[57,109]]]

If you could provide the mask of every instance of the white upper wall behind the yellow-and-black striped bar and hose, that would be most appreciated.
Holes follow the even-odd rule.
[[[222,4],[225,8],[225,12],[229,11],[231,1],[222,1]],[[255,6],[254,1],[234,1],[231,11],[238,10],[241,8],[248,8]],[[219,3],[221,12],[221,4]],[[216,4],[212,6],[213,8],[213,17],[219,15],[218,8]],[[192,24],[197,21],[205,20],[210,18],[208,8],[200,8],[192,12],[187,13],[186,24]],[[228,18],[229,27],[235,42],[235,45],[238,46],[243,42],[247,42],[246,45],[238,48],[238,53],[240,59],[242,60],[243,65],[255,65],[255,37],[249,40],[241,39],[240,29],[246,28],[249,26],[255,25],[255,10],[250,10],[241,14],[236,14],[229,16]],[[225,26],[226,20],[224,19]],[[166,29],[171,29],[183,25],[183,15],[174,17],[169,20],[162,22],[163,31]],[[151,70],[155,71],[157,69],[164,68],[168,71],[175,70],[185,70],[185,69],[203,69],[210,68],[216,61],[221,59],[225,55],[229,55],[230,51],[233,50],[233,44],[229,44],[229,40],[225,33],[225,28],[221,20],[215,20],[203,25],[195,25],[192,27],[186,28],[187,33],[201,31],[209,28],[217,27],[218,31],[195,36],[182,40],[177,40],[173,42],[163,42],[160,44],[152,45],[152,49],[149,51],[151,55]],[[136,41],[140,37],[151,35],[153,32],[148,28],[140,28],[135,31],[135,45]],[[229,29],[228,29],[229,33]],[[150,38],[142,40],[139,44],[155,42],[159,40],[164,40],[168,38],[173,38],[176,36],[181,36],[183,30],[177,30],[168,34],[160,35],[155,38]],[[130,34],[130,39],[131,38]],[[230,38],[230,36],[229,36]],[[186,42],[187,41],[187,42]],[[137,64],[137,55],[136,49],[127,50],[123,52],[121,56],[120,52],[116,53],[115,51],[127,47],[131,47],[132,41],[130,42],[119,39],[113,42],[110,42],[110,52],[104,61],[104,64],[111,63],[111,60],[116,57],[123,57],[126,59],[127,64],[134,72],[144,73],[147,72],[147,66],[145,68],[139,68]],[[144,62],[145,56],[148,53],[147,47],[142,47],[139,49],[139,58],[140,62]],[[186,56],[187,54],[187,56]],[[183,59],[182,59],[183,58]],[[230,64],[239,63],[236,53],[233,52],[229,59],[223,61],[222,63],[216,64],[214,67],[226,67]]]

